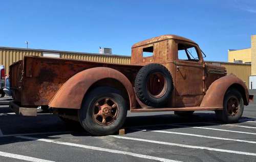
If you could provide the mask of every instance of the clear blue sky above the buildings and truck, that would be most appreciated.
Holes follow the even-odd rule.
[[[163,34],[197,42],[205,60],[250,48],[256,1],[0,0],[0,46],[131,55],[134,43]]]

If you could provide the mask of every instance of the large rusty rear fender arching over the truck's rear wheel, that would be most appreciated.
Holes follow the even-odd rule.
[[[135,93],[129,79],[113,68],[94,67],[77,73],[63,84],[50,101],[49,107],[80,109],[83,97],[90,86],[105,78],[121,82],[129,95],[131,109],[136,106]]]

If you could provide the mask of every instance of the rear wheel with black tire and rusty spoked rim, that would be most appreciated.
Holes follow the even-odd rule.
[[[106,123],[103,122],[103,116],[101,116],[102,120],[100,116],[95,117],[96,115],[95,111],[97,111],[97,109],[102,110],[101,111],[102,113],[106,112],[104,111],[104,107],[99,108],[99,106],[96,106],[100,102],[106,101],[106,99],[109,99],[107,102],[113,102],[116,104],[115,106],[116,108],[114,112],[115,113],[114,116],[116,118],[113,122],[109,122],[109,124],[107,124],[108,122],[106,122],[108,117],[105,118]],[[111,105],[113,103],[106,103],[106,104]],[[112,109],[108,111],[108,114],[112,114]],[[91,90],[89,94],[86,94],[86,96],[84,97],[82,107],[81,109],[78,110],[78,118],[82,127],[85,130],[87,130],[89,133],[97,136],[109,135],[117,132],[123,125],[126,119],[126,115],[127,115],[127,104],[125,99],[122,97],[121,92],[109,86],[101,86]],[[110,119],[112,120],[112,118]],[[102,121],[102,123],[100,122],[100,120]]]

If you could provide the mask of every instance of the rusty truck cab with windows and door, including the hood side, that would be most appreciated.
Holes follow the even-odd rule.
[[[226,75],[224,67],[206,65],[203,56],[196,42],[163,35],[134,44],[131,63],[164,65],[174,82],[169,107],[192,107],[201,104],[212,82]]]

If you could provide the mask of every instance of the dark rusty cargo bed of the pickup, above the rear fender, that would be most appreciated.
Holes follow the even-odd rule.
[[[73,75],[92,67],[111,67],[123,73],[134,84],[141,68],[138,65],[80,61],[49,57],[25,56],[10,66],[13,100],[20,106],[48,105],[58,89]]]

